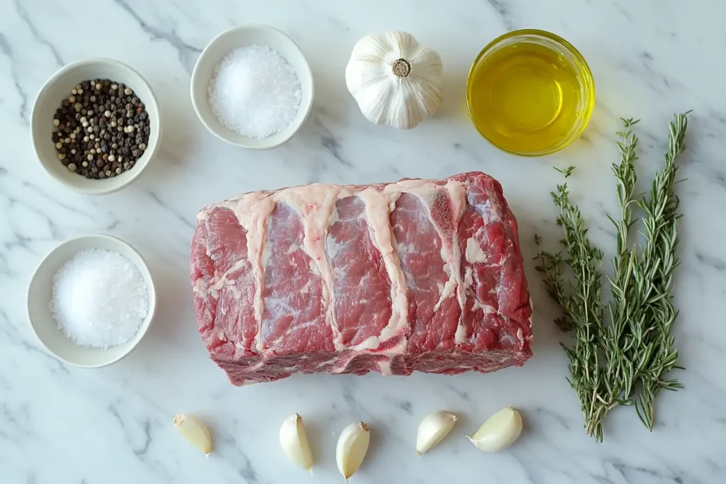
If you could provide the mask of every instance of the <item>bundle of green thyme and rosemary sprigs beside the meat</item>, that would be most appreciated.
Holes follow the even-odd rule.
[[[619,218],[610,218],[617,231],[613,276],[607,276],[611,303],[601,298],[600,263],[603,252],[587,237],[587,228],[569,197],[566,183],[558,185],[552,199],[560,209],[558,226],[563,229],[558,253],[541,251],[535,260],[550,296],[563,315],[560,329],[574,333],[574,343],[563,348],[569,359],[570,382],[582,406],[585,429],[603,440],[603,419],[616,406],[634,405],[638,417],[653,429],[654,401],[659,390],[681,387],[668,373],[677,366],[671,327],[677,317],[673,307],[672,276],[679,261],[677,221],[679,200],[674,194],[678,168],[676,158],[685,148],[688,112],[669,123],[669,149],[664,165],[656,173],[650,192],[635,194],[637,136],[624,119],[619,133],[620,163],[613,163],[618,181]],[[567,179],[574,167],[560,171]],[[629,245],[637,222],[635,208],[643,212],[643,244]],[[534,236],[537,245],[540,239]]]

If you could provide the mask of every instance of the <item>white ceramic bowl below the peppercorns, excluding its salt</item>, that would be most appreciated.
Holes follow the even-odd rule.
[[[113,250],[128,258],[139,268],[149,290],[149,312],[139,327],[139,332],[123,345],[111,346],[106,349],[77,345],[58,329],[58,324],[49,308],[53,276],[78,252],[91,248]],[[28,319],[38,340],[62,361],[86,368],[110,365],[129,354],[149,329],[155,310],[156,291],[144,259],[134,247],[110,235],[87,235],[70,239],[55,247],[38,265],[28,287]]]

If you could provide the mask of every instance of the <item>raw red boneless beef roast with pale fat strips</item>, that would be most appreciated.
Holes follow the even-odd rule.
[[[242,194],[197,216],[191,271],[199,332],[234,385],[531,356],[517,223],[484,173]]]

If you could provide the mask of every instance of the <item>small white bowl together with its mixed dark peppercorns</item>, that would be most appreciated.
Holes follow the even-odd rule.
[[[41,165],[83,194],[115,192],[134,181],[161,137],[156,97],[139,73],[112,59],[62,67],[38,92],[30,136]]]

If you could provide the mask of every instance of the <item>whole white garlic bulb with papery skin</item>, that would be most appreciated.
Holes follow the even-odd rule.
[[[441,105],[441,57],[405,32],[372,33],[358,41],[346,86],[376,124],[410,129]]]

